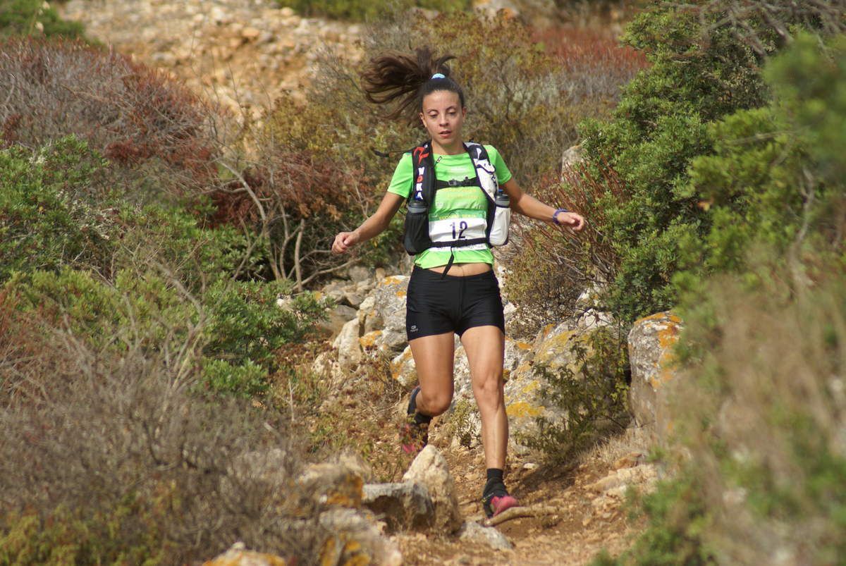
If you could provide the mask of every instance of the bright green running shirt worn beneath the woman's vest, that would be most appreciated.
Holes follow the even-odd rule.
[[[511,179],[511,172],[493,146],[485,146],[487,156],[497,171],[497,182],[502,185]],[[435,178],[439,181],[475,179],[475,168],[470,154],[466,151],[459,155],[448,156],[434,154]],[[414,172],[411,167],[411,152],[404,153],[393,172],[391,184],[387,191],[394,195],[409,198],[411,179]],[[435,203],[429,208],[429,220],[447,220],[449,218],[485,218],[487,215],[487,198],[478,186],[473,187],[444,187],[435,193]],[[475,247],[481,249],[473,249]],[[415,265],[428,269],[447,265],[449,248],[430,248],[415,256]],[[470,246],[468,248],[454,248],[455,263],[490,263],[493,265],[491,248],[486,244]]]

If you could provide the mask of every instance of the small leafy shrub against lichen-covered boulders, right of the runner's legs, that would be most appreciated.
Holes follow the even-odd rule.
[[[547,382],[544,402],[564,411],[563,422],[537,417],[538,431],[522,439],[552,461],[563,461],[629,423],[629,360],[619,332],[599,327],[576,338],[571,352],[571,364],[555,370],[535,366]]]

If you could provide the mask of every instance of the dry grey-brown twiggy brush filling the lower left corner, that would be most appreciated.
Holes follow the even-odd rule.
[[[286,423],[192,393],[190,338],[92,348],[6,292],[0,327],[0,562],[186,563],[237,540],[312,555],[322,531],[291,486]]]

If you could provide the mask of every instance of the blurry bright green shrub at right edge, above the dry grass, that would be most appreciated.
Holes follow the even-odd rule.
[[[799,35],[766,67],[772,104],[711,124],[714,155],[691,163],[687,188],[706,199],[710,228],[702,242],[682,242],[679,288],[699,294],[703,274],[743,272],[753,245],[812,272],[843,261],[843,58],[846,36],[821,50],[818,38]]]

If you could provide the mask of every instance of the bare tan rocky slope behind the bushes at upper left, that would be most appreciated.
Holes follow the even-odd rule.
[[[86,35],[234,111],[302,99],[321,49],[355,59],[360,26],[301,18],[273,0],[70,0]],[[254,116],[255,117],[255,116]]]

